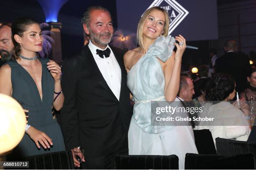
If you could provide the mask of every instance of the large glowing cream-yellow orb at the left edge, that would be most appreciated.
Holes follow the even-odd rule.
[[[26,115],[12,97],[0,94],[0,154],[20,143],[26,128]]]

